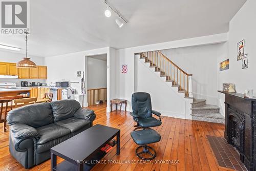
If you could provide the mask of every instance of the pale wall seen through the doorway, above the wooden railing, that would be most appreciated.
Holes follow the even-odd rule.
[[[106,88],[106,61],[87,58],[88,89]]]

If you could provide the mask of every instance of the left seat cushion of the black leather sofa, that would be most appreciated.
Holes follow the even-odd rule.
[[[41,126],[37,128],[37,132],[40,135],[39,140],[37,141],[37,144],[44,144],[48,141],[51,141],[53,139],[65,136],[67,134],[70,134],[70,130],[66,129],[65,127],[56,125],[54,123],[51,123],[46,126]]]

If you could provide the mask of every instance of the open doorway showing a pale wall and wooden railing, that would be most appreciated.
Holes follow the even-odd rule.
[[[107,54],[87,56],[88,106],[107,100]]]

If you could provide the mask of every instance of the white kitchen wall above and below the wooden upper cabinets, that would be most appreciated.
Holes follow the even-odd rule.
[[[17,63],[18,61],[22,60],[23,57],[26,55],[20,53],[14,53],[11,51],[2,51],[0,50],[0,61],[1,62],[12,62]],[[33,62],[35,62],[38,66],[45,65],[45,59],[43,57],[37,56],[29,56]],[[16,82],[17,87],[20,87],[21,81],[28,81],[28,82],[46,82],[44,79],[2,79],[0,78],[0,82]]]

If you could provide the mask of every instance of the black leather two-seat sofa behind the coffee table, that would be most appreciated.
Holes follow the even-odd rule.
[[[95,117],[94,111],[82,109],[75,100],[14,109],[7,115],[9,151],[20,164],[30,168],[49,159],[51,147],[91,127]]]

